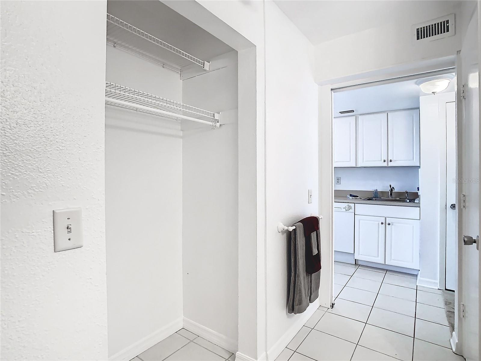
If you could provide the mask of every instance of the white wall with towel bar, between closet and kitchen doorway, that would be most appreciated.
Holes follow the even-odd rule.
[[[282,39],[282,41],[280,41]],[[286,48],[286,44],[290,44]],[[287,234],[292,224],[318,214],[317,85],[311,44],[273,2],[266,2],[266,234],[267,352],[280,352],[303,315],[288,314]],[[295,64],[294,66],[292,66]],[[307,203],[308,189],[313,200]],[[313,305],[311,307],[316,307]],[[309,312],[306,311],[306,312]],[[287,340],[289,342],[289,340]],[[280,345],[285,347],[284,345]]]

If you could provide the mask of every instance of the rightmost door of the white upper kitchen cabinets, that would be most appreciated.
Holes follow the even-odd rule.
[[[419,109],[388,113],[389,166],[419,166]]]

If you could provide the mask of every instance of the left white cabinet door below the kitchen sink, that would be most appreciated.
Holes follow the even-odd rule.
[[[354,258],[384,263],[384,217],[354,217]]]

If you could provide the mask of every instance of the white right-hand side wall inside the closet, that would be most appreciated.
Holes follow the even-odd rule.
[[[182,81],[183,102],[221,112],[219,129],[186,124],[183,160],[184,317],[237,351],[238,124],[237,52],[212,73]]]

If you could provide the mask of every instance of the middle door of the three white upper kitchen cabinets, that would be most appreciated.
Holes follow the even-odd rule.
[[[358,163],[359,167],[382,167],[388,162],[387,113],[359,116]]]

